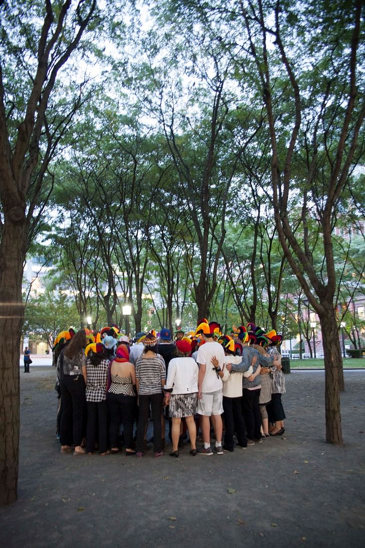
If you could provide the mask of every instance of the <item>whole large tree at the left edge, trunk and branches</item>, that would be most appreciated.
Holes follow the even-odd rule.
[[[0,16],[0,330],[9,334],[0,343],[0,504],[8,504],[18,483],[23,264],[49,198],[44,175],[83,92],[81,84],[62,104],[57,77],[95,20],[96,0],[1,2]]]

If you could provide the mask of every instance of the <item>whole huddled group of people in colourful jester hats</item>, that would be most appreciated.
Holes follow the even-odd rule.
[[[206,318],[175,340],[163,328],[138,333],[134,344],[117,326],[61,332],[53,349],[61,453],[118,453],[123,439],[125,455],[142,458],[149,416],[155,458],[164,455],[167,425],[172,457],[187,435],[192,456],[222,455],[281,435],[280,343],[275,330],[249,323],[222,334]]]

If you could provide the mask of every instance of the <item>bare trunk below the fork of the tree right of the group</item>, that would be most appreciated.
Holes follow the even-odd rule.
[[[320,316],[325,353],[326,442],[343,445],[340,414],[340,388],[343,383],[341,349],[333,306],[326,306],[326,311],[325,316]]]

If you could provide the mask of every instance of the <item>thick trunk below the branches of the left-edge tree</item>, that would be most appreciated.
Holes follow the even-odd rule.
[[[10,212],[11,213],[11,212]],[[19,358],[24,320],[25,218],[4,224],[0,245],[0,504],[16,500],[19,466]],[[19,222],[20,221],[20,222]],[[9,336],[8,336],[9,335]]]

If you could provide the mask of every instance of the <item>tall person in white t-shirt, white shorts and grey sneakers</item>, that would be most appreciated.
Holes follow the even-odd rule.
[[[200,455],[223,455],[222,449],[222,413],[223,413],[223,383],[224,375],[224,350],[222,346],[213,339],[210,326],[202,322],[196,328],[196,335],[201,334],[205,344],[198,350],[196,361],[199,364],[198,376],[198,413],[204,447],[198,450]],[[218,366],[212,363],[216,358]],[[210,445],[210,416],[213,417],[216,432],[216,447]]]

